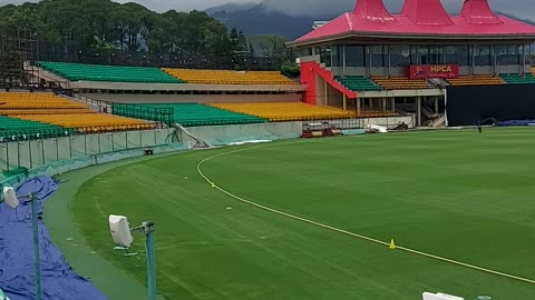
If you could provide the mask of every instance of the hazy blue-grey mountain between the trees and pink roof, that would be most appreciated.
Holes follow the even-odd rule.
[[[270,10],[263,3],[254,4],[244,10],[234,10],[233,8],[235,7],[226,7],[223,10],[213,8],[206,10],[206,12],[228,28],[242,30],[247,36],[280,34],[290,40],[310,32],[313,21],[331,20],[338,16],[288,16],[280,11]]]

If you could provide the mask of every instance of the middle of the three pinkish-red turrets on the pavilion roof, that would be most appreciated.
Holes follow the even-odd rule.
[[[407,16],[416,24],[454,24],[440,0],[406,0],[400,14]]]

